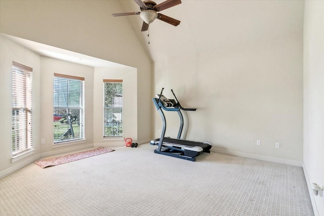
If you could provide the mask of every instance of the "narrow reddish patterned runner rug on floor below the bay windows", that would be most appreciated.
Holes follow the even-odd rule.
[[[37,160],[34,163],[37,164],[38,166],[41,166],[42,168],[45,168],[48,166],[55,166],[55,165],[59,165],[62,163],[68,163],[71,161],[80,160],[80,159],[84,159],[87,157],[92,157],[92,156],[96,156],[99,154],[104,154],[104,153],[108,153],[108,152],[112,152],[112,151],[114,151],[114,149],[99,147],[96,149],[78,152],[78,153],[74,153],[74,154],[68,154],[68,155],[64,155],[64,156],[60,156],[60,157],[53,157],[53,158],[44,159],[44,160]]]

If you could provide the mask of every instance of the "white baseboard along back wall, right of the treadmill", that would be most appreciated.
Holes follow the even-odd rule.
[[[293,165],[293,166],[302,166],[303,162],[298,160],[290,160],[290,159],[284,159],[284,158],[277,158],[277,157],[269,157],[265,155],[258,155],[258,154],[250,154],[245,152],[238,152],[238,151],[232,151],[232,150],[226,150],[226,149],[220,149],[220,148],[212,148],[212,152],[220,153],[220,154],[228,154],[238,157],[246,157],[256,160],[264,160],[269,162],[275,162],[275,163],[282,163],[287,165]]]

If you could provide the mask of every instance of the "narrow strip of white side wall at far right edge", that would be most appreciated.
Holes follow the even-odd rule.
[[[304,169],[309,183],[324,186],[324,2],[305,1],[304,12]],[[311,193],[311,196],[312,193]],[[324,215],[314,197],[315,215]],[[317,210],[317,212],[316,212]]]

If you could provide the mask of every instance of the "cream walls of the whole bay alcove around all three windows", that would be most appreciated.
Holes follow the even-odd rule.
[[[39,157],[82,149],[89,146],[124,145],[124,140],[103,140],[103,79],[123,79],[124,137],[138,139],[137,69],[132,67],[90,67],[39,56],[1,34],[1,171],[28,164]],[[11,161],[11,70],[12,61],[33,68],[33,154],[17,162]],[[105,62],[102,60],[102,62]],[[85,141],[54,144],[53,140],[53,79],[54,73],[85,78]],[[41,144],[45,139],[45,144]],[[8,143],[10,145],[8,145]],[[95,145],[96,145],[95,144]],[[19,164],[19,165],[17,165]],[[5,171],[6,170],[6,171]]]

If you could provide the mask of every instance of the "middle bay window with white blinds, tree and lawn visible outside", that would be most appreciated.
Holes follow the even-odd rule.
[[[84,80],[54,73],[54,144],[84,139]]]

